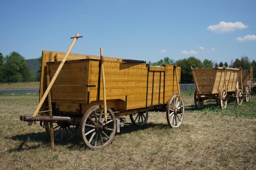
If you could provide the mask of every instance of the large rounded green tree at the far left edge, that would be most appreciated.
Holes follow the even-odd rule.
[[[11,52],[4,57],[2,69],[2,83],[27,82],[33,80],[33,76],[27,67],[25,58],[18,52]]]

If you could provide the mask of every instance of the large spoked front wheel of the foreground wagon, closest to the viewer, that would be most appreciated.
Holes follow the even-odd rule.
[[[107,107],[107,122],[104,119],[103,105],[95,105],[83,115],[81,122],[81,139],[93,150],[108,146],[115,136],[117,122],[113,111]]]

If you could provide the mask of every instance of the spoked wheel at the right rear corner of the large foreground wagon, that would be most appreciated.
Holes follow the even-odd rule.
[[[180,103],[181,100],[181,103]],[[166,118],[168,125],[171,128],[179,127],[182,124],[184,117],[184,102],[178,94],[173,94],[168,100],[166,109]]]

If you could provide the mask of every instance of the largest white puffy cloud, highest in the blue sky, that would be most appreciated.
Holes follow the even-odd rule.
[[[218,25],[210,25],[207,30],[214,33],[226,33],[240,29],[248,28],[249,26],[244,25],[242,22],[224,22],[221,21]]]

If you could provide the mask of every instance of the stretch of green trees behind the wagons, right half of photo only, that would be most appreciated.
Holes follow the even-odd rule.
[[[200,59],[195,57],[189,57],[185,59],[179,59],[174,61],[169,57],[164,57],[164,59],[160,59],[157,62],[148,62],[150,66],[162,66],[164,64],[176,64],[181,66],[181,83],[193,83],[193,76],[190,68],[216,68],[216,67],[229,67],[229,68],[239,68],[241,67],[243,70],[250,70],[253,68],[253,78],[256,78],[256,61],[250,61],[247,56],[242,56],[241,59],[235,59],[235,61],[231,60],[230,64],[213,62],[212,60],[204,59],[202,62]]]

